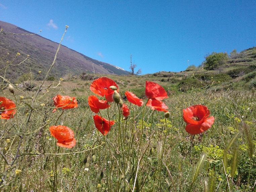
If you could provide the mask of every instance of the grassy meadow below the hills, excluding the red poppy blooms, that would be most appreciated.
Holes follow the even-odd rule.
[[[30,75],[22,77],[28,84],[19,87],[20,82],[5,78],[11,64],[2,60],[1,97],[15,102],[16,114],[0,119],[0,191],[255,191],[255,58],[248,62],[241,65],[247,72],[238,77],[241,66],[236,62],[227,63],[224,73],[199,67],[181,73],[106,75],[118,84],[130,115],[124,119],[114,102],[100,110],[102,117],[115,121],[103,136],[88,106],[88,96],[94,95],[92,80],[47,79],[40,77],[41,71],[28,71]],[[230,71],[236,78],[227,74]],[[145,81],[167,91],[169,118],[145,106]],[[144,105],[130,104],[125,91],[144,99]],[[57,94],[76,97],[78,107],[52,113]],[[206,105],[215,122],[192,136],[185,131],[182,109],[196,104]],[[76,145],[56,147],[49,132],[52,125],[71,128]]]

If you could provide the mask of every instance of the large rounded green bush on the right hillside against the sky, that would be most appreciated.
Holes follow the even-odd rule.
[[[217,67],[225,64],[228,60],[227,53],[215,53],[213,52],[211,55],[205,58],[205,69],[213,70]]]

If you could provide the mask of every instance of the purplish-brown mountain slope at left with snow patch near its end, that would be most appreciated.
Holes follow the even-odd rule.
[[[1,33],[32,34],[29,31],[3,21],[0,21],[0,28],[3,29]],[[1,61],[8,60],[10,62],[15,57],[15,54],[19,52],[20,56],[13,62],[13,64],[18,64],[27,55],[30,55],[29,60],[20,65],[11,66],[6,70],[6,77],[11,80],[17,79],[24,73],[28,73],[30,69],[34,75],[38,71],[42,71],[40,77],[43,77],[53,61],[57,47],[58,43],[40,35],[0,34],[0,58],[10,53]],[[62,77],[68,73],[79,75],[84,72],[92,73],[93,71],[98,74],[129,74],[128,71],[120,67],[92,59],[62,45],[50,75]],[[3,73],[3,71],[0,73]]]

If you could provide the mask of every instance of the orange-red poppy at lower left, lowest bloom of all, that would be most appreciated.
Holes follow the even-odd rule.
[[[49,130],[51,135],[57,139],[58,146],[72,148],[76,145],[74,132],[69,127],[62,125],[51,126]]]

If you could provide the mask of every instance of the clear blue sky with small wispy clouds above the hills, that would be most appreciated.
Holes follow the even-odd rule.
[[[0,20],[142,73],[200,65],[212,52],[256,46],[256,1],[0,0]],[[187,63],[187,60],[189,62]]]

